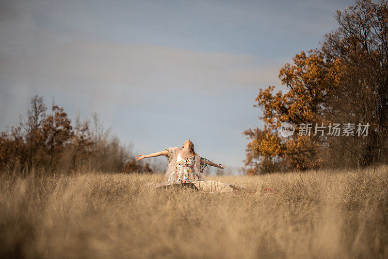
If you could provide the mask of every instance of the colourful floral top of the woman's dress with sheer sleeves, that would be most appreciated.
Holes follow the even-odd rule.
[[[194,155],[190,154],[187,157],[181,157],[179,154],[179,149],[177,148],[166,148],[168,151],[168,156],[166,159],[169,163],[173,160],[174,152],[178,152],[177,156],[177,165],[173,168],[173,173],[168,178],[168,184],[177,184],[177,183],[190,183],[203,180],[201,175],[198,175],[194,171]],[[206,171],[206,168],[209,166],[209,160],[203,157],[200,158],[199,173],[202,174]]]

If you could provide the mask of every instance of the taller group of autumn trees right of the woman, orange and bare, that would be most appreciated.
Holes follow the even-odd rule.
[[[388,162],[388,6],[356,0],[333,15],[338,28],[320,47],[285,64],[274,86],[259,89],[263,128],[244,131],[247,173],[365,167]],[[300,125],[369,123],[367,136],[279,135],[282,122]],[[314,129],[314,128],[313,128]],[[323,136],[322,136],[323,135]]]

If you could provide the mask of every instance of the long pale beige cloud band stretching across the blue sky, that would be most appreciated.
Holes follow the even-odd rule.
[[[248,55],[77,41],[42,54],[1,57],[0,69],[8,84],[39,79],[41,86],[54,88],[58,83],[63,87],[65,82],[89,82],[96,87],[203,90],[275,83],[279,68],[260,66]],[[67,87],[72,88],[71,84]]]

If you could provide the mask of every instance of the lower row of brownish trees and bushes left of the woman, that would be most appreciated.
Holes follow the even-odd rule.
[[[97,113],[74,123],[54,102],[34,96],[19,123],[0,134],[0,169],[3,172],[152,172],[149,163],[135,161],[130,146],[111,135]]]

